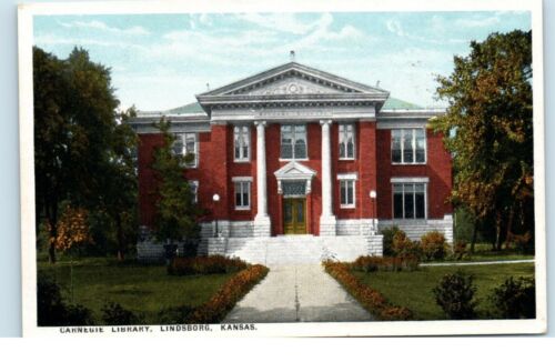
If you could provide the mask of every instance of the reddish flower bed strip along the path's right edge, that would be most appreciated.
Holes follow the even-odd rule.
[[[361,283],[352,273],[354,263],[324,261],[325,271],[335,278],[369,312],[382,321],[406,321],[412,312],[404,306],[391,305],[376,290]]]

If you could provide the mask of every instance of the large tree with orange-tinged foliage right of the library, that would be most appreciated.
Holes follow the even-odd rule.
[[[453,154],[451,201],[475,225],[494,220],[494,249],[516,232],[534,231],[532,32],[492,33],[454,57],[454,71],[438,77],[448,103],[431,127]]]

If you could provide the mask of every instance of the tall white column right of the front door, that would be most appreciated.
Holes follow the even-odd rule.
[[[330,148],[331,120],[320,121],[322,125],[322,215],[320,234],[335,235],[336,220],[332,210],[332,151]]]

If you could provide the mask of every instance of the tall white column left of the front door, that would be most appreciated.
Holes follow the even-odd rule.
[[[254,122],[256,125],[256,217],[254,218],[254,235],[270,235],[270,217],[268,215],[266,187],[266,122]]]

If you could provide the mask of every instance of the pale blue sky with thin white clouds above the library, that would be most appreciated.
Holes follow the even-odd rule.
[[[472,40],[529,30],[523,12],[310,12],[36,16],[34,44],[59,58],[74,47],[111,69],[125,109],[176,108],[195,94],[295,61],[423,107],[436,76]]]

